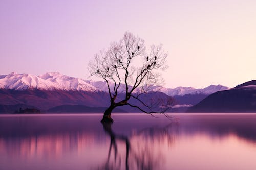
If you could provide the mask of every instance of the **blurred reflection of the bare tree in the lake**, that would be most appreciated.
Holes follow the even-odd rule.
[[[110,136],[106,162],[98,169],[160,169],[164,157],[156,146],[167,141],[173,143],[173,123],[164,127],[150,127],[134,132],[131,136],[117,134],[112,123],[103,123],[103,129]],[[176,129],[177,130],[177,129]]]

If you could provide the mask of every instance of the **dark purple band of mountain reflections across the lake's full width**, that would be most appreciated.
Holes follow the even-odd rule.
[[[77,132],[102,135],[102,125],[99,123],[101,116],[101,114],[4,116],[0,117],[0,137],[53,136]],[[158,127],[160,125],[169,124],[169,120],[163,115],[156,115],[159,118],[144,114],[113,114],[113,116],[116,121],[112,129],[116,133],[126,136],[143,134],[145,137],[154,137],[159,133]],[[246,140],[256,142],[256,116],[253,114],[177,114],[175,117],[180,119],[179,131],[172,133],[195,134],[206,131],[212,136],[225,136],[232,132]],[[150,129],[150,131],[143,131],[143,129]],[[146,132],[154,132],[154,135],[151,136]]]

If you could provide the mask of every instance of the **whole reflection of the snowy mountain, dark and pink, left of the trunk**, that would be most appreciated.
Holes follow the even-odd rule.
[[[66,154],[83,155],[88,148],[106,138],[103,132],[90,131],[91,128],[99,129],[97,124],[89,121],[84,126],[84,119],[79,117],[1,117],[0,157],[4,154],[19,160],[54,160]]]

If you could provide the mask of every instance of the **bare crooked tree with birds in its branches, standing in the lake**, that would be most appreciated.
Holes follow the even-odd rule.
[[[162,82],[157,70],[165,70],[167,54],[162,45],[152,45],[146,53],[144,40],[126,32],[118,42],[111,43],[108,50],[96,54],[89,63],[91,76],[101,77],[108,86],[110,106],[105,110],[101,122],[113,122],[111,112],[124,105],[137,108],[148,114],[165,113],[172,102],[167,100],[142,100],[155,85]],[[111,86],[111,83],[114,83]],[[121,90],[120,87],[124,86]],[[131,99],[138,104],[131,103]]]

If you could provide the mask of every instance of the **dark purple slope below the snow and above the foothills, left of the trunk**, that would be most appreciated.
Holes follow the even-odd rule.
[[[106,107],[109,103],[109,95],[102,91],[0,89],[0,105],[29,105],[42,112],[60,105]]]

